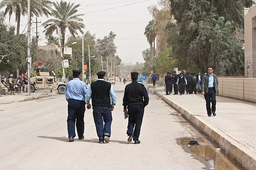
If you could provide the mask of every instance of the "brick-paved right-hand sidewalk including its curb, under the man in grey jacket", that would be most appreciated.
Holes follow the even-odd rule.
[[[202,94],[172,94],[162,100],[245,169],[256,169],[256,103],[216,96],[216,116],[208,117]]]

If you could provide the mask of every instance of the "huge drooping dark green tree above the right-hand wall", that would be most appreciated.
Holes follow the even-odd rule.
[[[206,71],[212,64],[218,74],[241,72],[237,66],[244,66],[244,52],[233,32],[243,28],[244,7],[250,7],[252,0],[171,0],[170,4],[176,23],[166,25],[167,42],[186,70],[195,65],[194,70]]]

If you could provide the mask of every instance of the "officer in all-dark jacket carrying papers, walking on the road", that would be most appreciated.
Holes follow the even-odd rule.
[[[124,112],[128,109],[129,115],[126,132],[128,135],[127,141],[132,142],[133,138],[134,144],[140,144],[139,136],[144,107],[148,105],[149,101],[146,88],[143,84],[138,83],[138,75],[137,72],[131,72],[132,83],[125,86],[123,98]]]

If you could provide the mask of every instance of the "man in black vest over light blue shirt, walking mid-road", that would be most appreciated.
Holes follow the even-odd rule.
[[[105,81],[105,74],[105,71],[97,72],[98,80],[90,85],[85,100],[87,109],[90,109],[90,99],[92,98],[92,114],[100,144],[103,144],[104,140],[106,143],[109,142],[112,122],[111,111],[116,105],[116,94],[112,85]],[[110,103],[110,97],[112,103]],[[104,127],[103,121],[105,122]]]

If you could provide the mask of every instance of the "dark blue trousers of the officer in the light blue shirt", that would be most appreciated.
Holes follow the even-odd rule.
[[[84,135],[84,112],[85,101],[83,100],[68,100],[68,138],[76,136],[83,137]],[[75,130],[76,123],[76,130]]]

